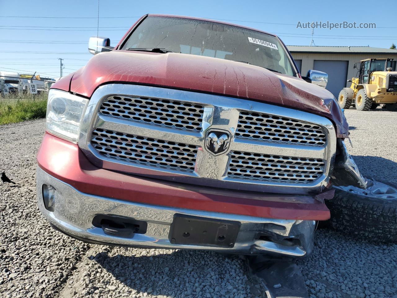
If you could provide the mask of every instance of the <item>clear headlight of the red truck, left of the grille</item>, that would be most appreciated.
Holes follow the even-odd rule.
[[[48,93],[46,130],[77,143],[87,103],[88,100],[83,97],[51,89]]]

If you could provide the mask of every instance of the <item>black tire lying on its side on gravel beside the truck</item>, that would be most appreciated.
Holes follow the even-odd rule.
[[[331,212],[328,228],[371,242],[397,242],[397,184],[377,180],[367,190],[335,187],[326,205]]]

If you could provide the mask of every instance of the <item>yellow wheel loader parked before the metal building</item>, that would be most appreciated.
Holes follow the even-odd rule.
[[[396,62],[392,58],[365,59],[357,63],[357,76],[351,80],[350,88],[343,88],[339,93],[338,103],[341,108],[352,104],[357,110],[368,111],[382,108],[397,111],[397,72]]]

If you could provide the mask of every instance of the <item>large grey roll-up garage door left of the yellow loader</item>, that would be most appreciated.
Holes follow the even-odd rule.
[[[314,60],[314,69],[328,74],[327,90],[337,98],[342,88],[346,87],[347,67],[349,61]]]

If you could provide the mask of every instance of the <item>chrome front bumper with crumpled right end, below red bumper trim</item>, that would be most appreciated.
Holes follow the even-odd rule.
[[[54,211],[44,207],[42,185],[50,185],[56,189]],[[315,221],[264,219],[245,215],[211,213],[206,211],[161,207],[131,203],[106,197],[83,194],[53,176],[37,168],[37,197],[39,209],[44,217],[56,228],[66,234],[87,240],[116,246],[163,249],[195,249],[212,250],[225,253],[272,254],[289,257],[304,257],[313,248]],[[239,221],[239,233],[233,248],[216,246],[198,246],[172,244],[168,239],[170,225],[174,215],[193,215],[209,219]],[[134,234],[131,238],[110,236],[102,228],[95,227],[93,218],[98,215],[118,215],[147,222],[145,234]],[[294,245],[256,240],[259,232],[271,232],[276,238],[297,238]]]

